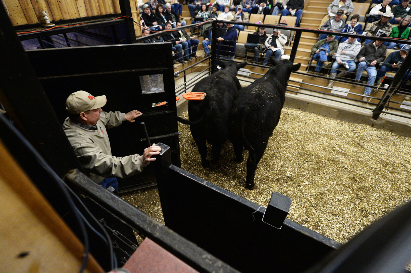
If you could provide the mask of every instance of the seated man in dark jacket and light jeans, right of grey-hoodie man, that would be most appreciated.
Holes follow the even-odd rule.
[[[382,34],[380,37],[387,37],[386,34]],[[373,85],[377,76],[376,65],[382,62],[386,58],[387,48],[383,45],[382,41],[376,40],[373,43],[369,43],[360,50],[358,53],[358,66],[356,74],[356,82],[360,81],[361,75],[363,75],[364,69],[368,73],[367,85]],[[371,87],[366,87],[364,95],[371,94]],[[363,101],[367,101],[367,97],[363,97]]]

